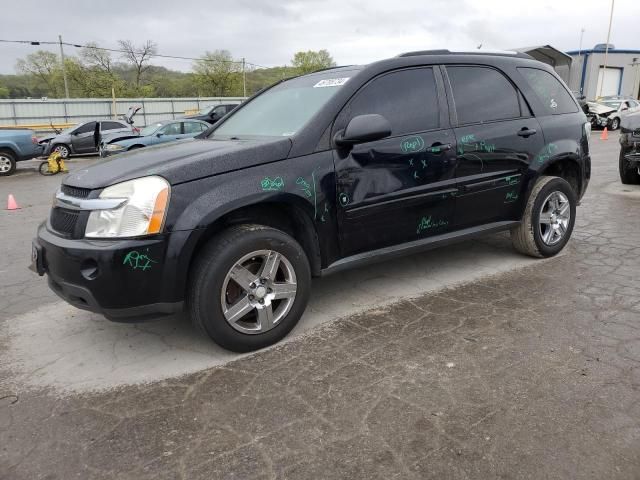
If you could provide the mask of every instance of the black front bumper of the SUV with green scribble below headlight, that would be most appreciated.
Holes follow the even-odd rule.
[[[146,239],[66,239],[45,223],[33,240],[32,269],[71,305],[130,321],[182,310],[184,272],[176,252],[188,232]],[[177,251],[180,251],[179,249]]]

